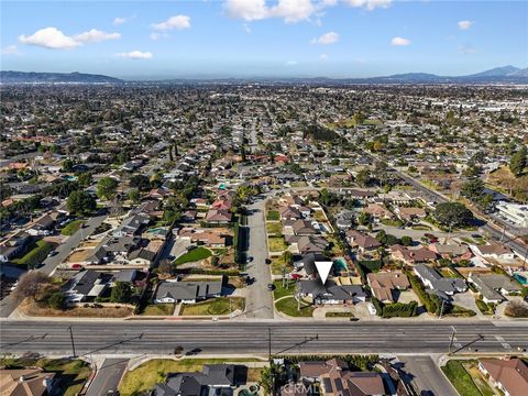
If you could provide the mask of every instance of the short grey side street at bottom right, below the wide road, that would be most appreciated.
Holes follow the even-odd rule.
[[[398,359],[404,363],[403,369],[408,374],[407,380],[413,384],[418,395],[459,395],[431,356],[398,356]]]

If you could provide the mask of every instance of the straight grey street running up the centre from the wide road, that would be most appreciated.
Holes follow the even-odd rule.
[[[248,274],[255,277],[256,282],[248,286],[246,318],[272,319],[274,317],[273,293],[267,289],[267,284],[272,283],[272,276],[266,264],[267,239],[264,205],[265,200],[260,199],[248,208],[252,212],[248,216],[248,227],[250,228],[248,256],[253,257],[253,261],[248,264]]]

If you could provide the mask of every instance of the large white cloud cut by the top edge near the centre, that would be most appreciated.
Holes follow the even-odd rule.
[[[279,18],[286,23],[295,23],[308,20],[317,11],[312,0],[278,0],[273,7],[268,7],[265,0],[226,0],[223,8],[230,18],[248,22]]]

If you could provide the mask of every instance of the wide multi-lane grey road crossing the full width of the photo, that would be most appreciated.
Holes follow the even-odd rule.
[[[3,320],[0,349],[4,353],[28,351],[72,354],[72,326],[77,354],[164,354],[176,346],[200,353],[267,354],[268,329],[272,353],[447,353],[453,328],[452,351],[519,353],[528,348],[528,323],[494,326],[471,321],[453,324],[414,322],[306,321],[67,321]]]

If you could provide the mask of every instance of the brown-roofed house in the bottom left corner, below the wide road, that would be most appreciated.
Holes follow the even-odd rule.
[[[43,396],[51,395],[55,385],[55,373],[41,367],[0,370],[0,395]]]

